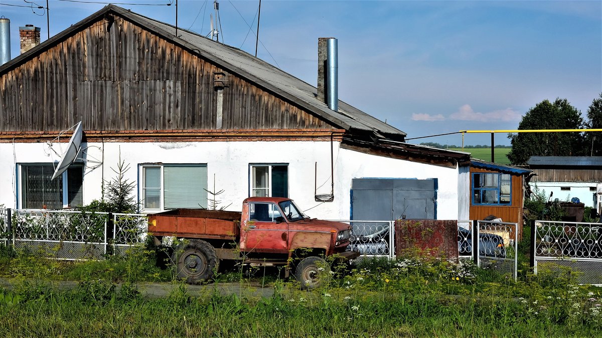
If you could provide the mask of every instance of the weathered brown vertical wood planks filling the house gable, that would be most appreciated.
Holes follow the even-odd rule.
[[[216,129],[215,64],[117,18],[0,76],[0,131]],[[226,72],[227,73],[227,72]],[[223,129],[333,129],[228,74]]]

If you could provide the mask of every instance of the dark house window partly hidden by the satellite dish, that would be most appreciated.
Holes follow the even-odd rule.
[[[20,204],[25,209],[61,209],[83,204],[84,167],[71,165],[52,180],[54,164],[20,165]]]

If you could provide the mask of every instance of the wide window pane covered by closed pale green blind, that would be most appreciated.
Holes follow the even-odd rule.
[[[164,208],[207,207],[207,165],[163,166]]]

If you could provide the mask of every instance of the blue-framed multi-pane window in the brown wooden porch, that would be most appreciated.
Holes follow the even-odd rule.
[[[473,174],[473,205],[512,204],[510,174]]]

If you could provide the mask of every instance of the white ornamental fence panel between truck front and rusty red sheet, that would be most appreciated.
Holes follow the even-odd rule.
[[[395,221],[338,221],[353,228],[349,251],[361,254],[359,259],[371,257],[395,258]]]

